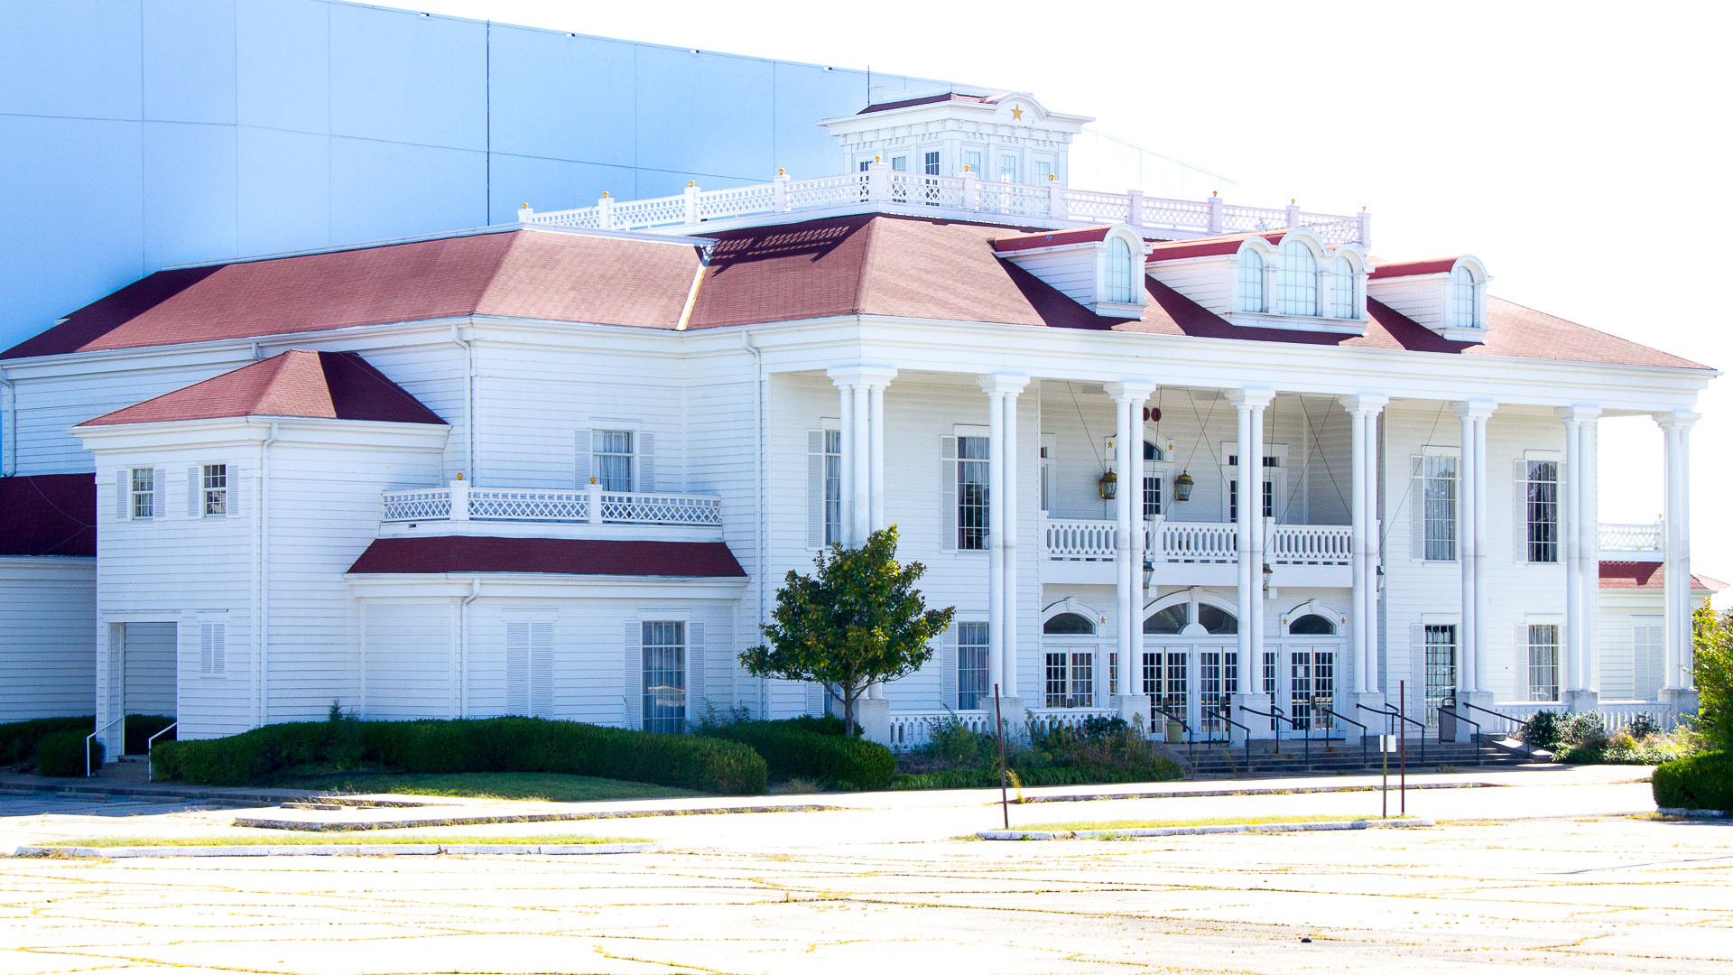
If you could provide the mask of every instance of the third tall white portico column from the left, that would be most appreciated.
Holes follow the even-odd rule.
[[[1114,514],[1118,515],[1114,533],[1114,569],[1118,569],[1118,684],[1120,715],[1130,720],[1139,715],[1149,718],[1149,701],[1140,694],[1139,677],[1142,675],[1144,649],[1144,404],[1156,392],[1156,383],[1149,380],[1121,380],[1107,383],[1107,396],[1113,397],[1114,413],[1114,475],[1118,489],[1114,493]]]

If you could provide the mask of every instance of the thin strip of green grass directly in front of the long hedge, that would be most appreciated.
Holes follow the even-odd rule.
[[[542,802],[665,800],[707,795],[674,786],[596,779],[593,775],[561,775],[558,772],[279,775],[263,784],[328,795],[402,793],[414,796]]]

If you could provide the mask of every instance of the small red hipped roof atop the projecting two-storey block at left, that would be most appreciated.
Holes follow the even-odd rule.
[[[432,409],[354,352],[295,349],[251,366],[87,420],[80,427],[218,416],[310,416],[438,423]]]

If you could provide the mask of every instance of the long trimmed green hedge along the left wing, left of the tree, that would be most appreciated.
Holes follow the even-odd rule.
[[[402,772],[561,772],[707,793],[763,793],[750,748],[702,736],[650,734],[546,718],[298,722],[230,737],[158,743],[158,779],[244,786],[295,765],[340,760]]]

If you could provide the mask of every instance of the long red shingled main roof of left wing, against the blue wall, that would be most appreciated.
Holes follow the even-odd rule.
[[[0,359],[494,314],[674,328],[693,246],[542,231],[158,271]]]

